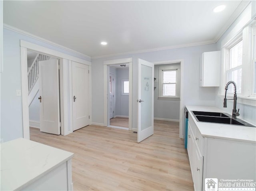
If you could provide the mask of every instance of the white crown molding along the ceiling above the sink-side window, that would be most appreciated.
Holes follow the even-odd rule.
[[[233,14],[228,18],[228,21],[224,25],[224,27],[219,31],[219,33],[216,35],[214,41],[217,42],[222,35],[230,28],[230,26],[235,22],[235,20],[240,16],[240,14],[244,11],[244,9],[250,4],[251,1],[242,0],[236,10],[233,12]]]

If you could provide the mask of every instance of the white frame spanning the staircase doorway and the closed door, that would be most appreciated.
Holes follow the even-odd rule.
[[[29,110],[28,110],[28,64],[27,64],[27,50],[36,51],[38,53],[46,54],[60,59],[60,126],[61,134],[67,135],[73,132],[73,125],[70,123],[72,110],[70,110],[70,102],[72,96],[69,96],[70,89],[70,62],[76,61],[89,66],[91,71],[91,62],[84,59],[74,57],[47,47],[43,47],[34,43],[20,40],[20,61],[21,61],[21,88],[22,88],[22,126],[23,138],[30,139],[29,130]],[[91,73],[91,72],[90,72]],[[91,74],[90,74],[91,75]],[[91,76],[89,75],[89,100],[91,100]],[[70,100],[71,98],[71,100]],[[90,102],[91,103],[91,102]],[[71,102],[72,104],[72,102]],[[91,104],[89,105],[89,113],[91,115]],[[90,119],[91,123],[91,119]]]

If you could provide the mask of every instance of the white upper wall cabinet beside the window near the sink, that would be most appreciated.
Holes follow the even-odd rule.
[[[199,85],[200,87],[220,86],[220,51],[202,53]]]

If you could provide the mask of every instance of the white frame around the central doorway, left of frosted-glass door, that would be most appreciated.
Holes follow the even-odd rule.
[[[108,126],[109,112],[108,112],[108,79],[109,66],[116,64],[129,63],[129,130],[132,130],[132,57],[114,60],[103,61],[104,67],[104,126]]]

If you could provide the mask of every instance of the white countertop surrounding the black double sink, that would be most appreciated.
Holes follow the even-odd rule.
[[[198,122],[192,111],[222,112],[223,110],[214,106],[186,106],[192,119],[196,123],[198,130],[203,137],[221,138],[228,140],[237,140],[243,142],[256,143],[256,128],[247,126],[237,126],[229,124],[217,124],[208,122]],[[252,124],[254,125],[254,124]]]

